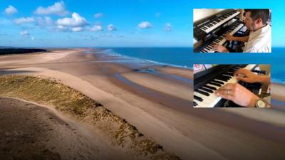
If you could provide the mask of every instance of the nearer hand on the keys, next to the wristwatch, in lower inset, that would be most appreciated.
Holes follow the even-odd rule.
[[[255,107],[255,102],[259,100],[257,95],[239,85],[239,83],[227,83],[216,91],[217,96],[226,100],[232,100],[237,105],[244,107]]]

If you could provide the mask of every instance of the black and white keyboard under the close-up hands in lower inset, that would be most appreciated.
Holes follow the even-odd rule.
[[[239,68],[254,70],[257,65],[217,65],[194,75],[194,107],[223,107],[224,99],[215,90],[227,83],[237,82],[234,72]]]

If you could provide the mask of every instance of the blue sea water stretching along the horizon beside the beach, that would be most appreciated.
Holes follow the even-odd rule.
[[[192,68],[193,64],[269,64],[271,80],[285,84],[285,48],[272,53],[193,53],[192,48],[102,48],[107,54],[160,65]]]

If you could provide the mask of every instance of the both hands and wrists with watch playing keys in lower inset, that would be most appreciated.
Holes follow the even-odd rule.
[[[244,77],[237,75],[244,75]],[[270,77],[268,75],[256,75],[247,69],[239,69],[236,73],[237,80],[242,80],[244,82],[261,82],[270,85]],[[270,107],[267,100],[254,95],[253,92],[247,90],[247,88],[239,85],[239,83],[227,83],[226,85],[219,88],[216,91],[217,96],[222,97],[226,100],[232,100],[232,102],[237,105],[244,107]],[[260,105],[261,104],[261,105]]]

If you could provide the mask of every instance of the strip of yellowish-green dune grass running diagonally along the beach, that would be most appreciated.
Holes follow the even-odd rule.
[[[135,156],[154,160],[180,159],[165,151],[155,140],[140,133],[125,119],[103,107],[100,102],[55,80],[26,75],[2,75],[0,96],[19,97],[40,105],[55,107],[60,112],[91,124],[110,139],[110,144],[123,147],[135,153]]]

